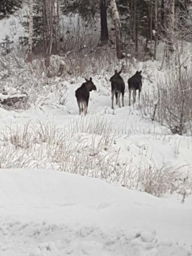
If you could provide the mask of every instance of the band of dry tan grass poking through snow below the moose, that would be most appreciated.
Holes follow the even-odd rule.
[[[69,121],[63,128],[29,122],[23,128],[7,127],[0,140],[1,168],[53,168],[158,197],[177,191],[184,200],[191,193],[190,178],[181,178],[177,169],[156,169],[147,160],[122,161],[118,130],[103,117]]]

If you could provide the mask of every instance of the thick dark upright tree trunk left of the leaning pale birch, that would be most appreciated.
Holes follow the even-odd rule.
[[[101,18],[101,44],[107,44],[109,40],[108,19],[106,13],[106,0],[100,0],[100,18]]]

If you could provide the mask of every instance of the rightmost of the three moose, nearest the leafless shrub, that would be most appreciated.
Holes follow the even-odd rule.
[[[129,106],[131,105],[131,93],[133,91],[133,103],[136,101],[136,91],[139,90],[139,103],[140,103],[140,94],[142,89],[142,76],[141,71],[136,71],[135,75],[128,79],[129,87]]]

